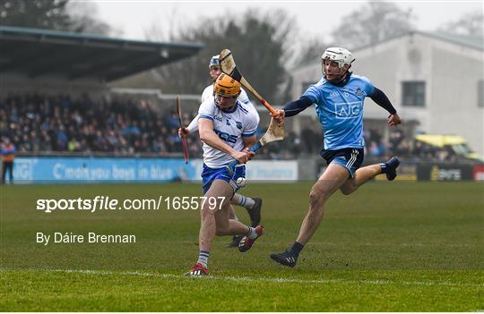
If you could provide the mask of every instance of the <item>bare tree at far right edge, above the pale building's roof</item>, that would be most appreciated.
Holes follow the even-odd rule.
[[[453,35],[482,37],[484,35],[484,13],[482,11],[465,13],[459,20],[447,22],[437,30]]]

